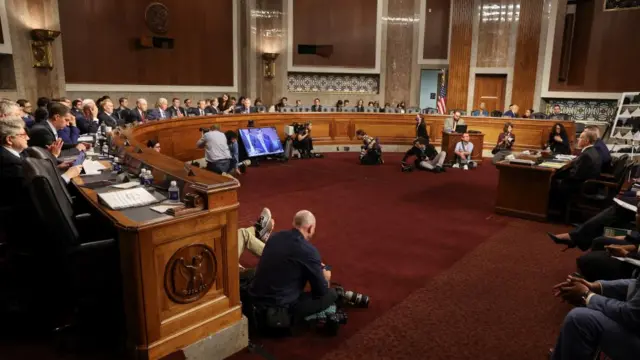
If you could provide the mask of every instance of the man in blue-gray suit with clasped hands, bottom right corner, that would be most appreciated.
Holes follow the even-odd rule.
[[[631,249],[630,247],[633,247]],[[638,259],[635,245],[611,245],[615,256]],[[635,279],[588,282],[569,276],[555,295],[577,307],[564,319],[551,360],[592,360],[597,349],[616,360],[640,354],[640,271]]]

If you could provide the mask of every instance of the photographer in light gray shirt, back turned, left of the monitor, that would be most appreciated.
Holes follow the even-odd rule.
[[[216,174],[228,174],[236,167],[236,162],[231,156],[227,137],[220,131],[220,125],[215,124],[211,130],[200,129],[202,137],[196,143],[200,149],[205,149],[207,170]]]

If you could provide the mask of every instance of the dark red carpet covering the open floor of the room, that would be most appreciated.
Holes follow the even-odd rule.
[[[488,162],[432,174],[400,172],[397,154],[385,160],[363,167],[354,154],[329,154],[241,178],[241,225],[263,206],[276,230],[311,210],[333,280],[372,299],[369,309],[349,310],[335,338],[257,342],[278,360],[543,356],[567,311],[550,288],[575,258],[549,244],[544,234],[554,227],[494,215],[497,171]]]

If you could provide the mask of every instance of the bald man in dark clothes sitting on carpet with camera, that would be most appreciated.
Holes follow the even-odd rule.
[[[331,271],[310,242],[315,232],[315,216],[301,210],[291,230],[271,235],[249,289],[256,305],[286,308],[296,322],[335,304],[338,294],[329,288]],[[311,292],[304,291],[307,283]]]

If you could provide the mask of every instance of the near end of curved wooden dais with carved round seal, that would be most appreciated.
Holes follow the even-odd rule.
[[[175,215],[148,206],[114,211],[98,202],[98,192],[110,189],[81,186],[89,178],[74,180],[118,232],[130,358],[155,360],[176,352],[183,352],[177,358],[193,358],[184,355],[190,351],[197,358],[231,356],[248,343],[240,305],[239,183],[147,149],[131,131],[114,140],[124,167],[134,174],[150,169],[160,187],[176,181],[181,196],[193,194],[196,201]],[[200,341],[203,346],[189,348]]]

